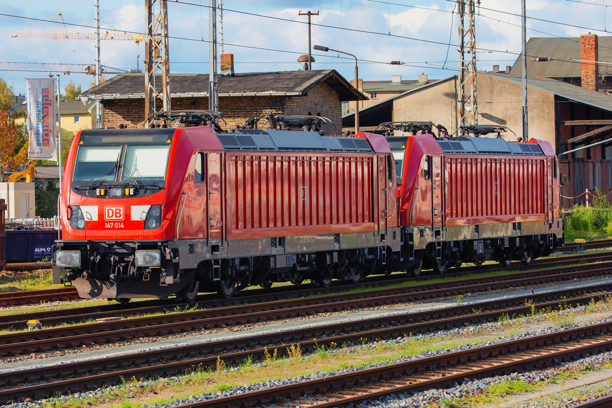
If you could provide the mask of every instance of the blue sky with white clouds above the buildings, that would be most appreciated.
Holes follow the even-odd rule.
[[[207,5],[207,0],[168,1],[170,72],[209,72]],[[308,26],[307,17],[298,14],[310,10],[319,12],[311,17],[312,45],[357,56],[363,80],[390,80],[393,75],[416,80],[422,73],[430,80],[442,79],[457,72],[456,6],[453,0],[223,0],[223,52],[234,54],[236,72],[300,69],[297,57],[308,53]],[[612,0],[526,0],[526,8],[528,38],[607,35],[612,26],[612,21],[606,23]],[[520,0],[481,0],[476,18],[479,70],[513,65],[521,51],[520,10]],[[61,31],[52,22],[58,16],[37,28],[56,13],[66,24],[77,24],[67,25],[68,32],[95,32],[94,0],[0,0],[0,13],[0,62],[95,64],[93,40],[11,37],[31,30]],[[100,0],[100,27],[102,32],[145,32],[144,2]],[[107,67],[143,69],[143,42],[104,40],[100,53]],[[312,69],[335,69],[354,79],[352,57],[333,51],[312,54]],[[24,93],[25,78],[47,75],[0,71],[0,78],[12,83],[17,94]],[[92,76],[84,73],[60,78],[62,87],[72,80],[85,90],[92,83]]]

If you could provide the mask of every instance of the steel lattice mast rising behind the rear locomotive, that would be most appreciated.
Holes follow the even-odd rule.
[[[478,124],[476,87],[476,6],[480,1],[457,0],[459,15],[458,127]],[[467,9],[467,10],[466,10]],[[467,56],[466,56],[467,54]]]

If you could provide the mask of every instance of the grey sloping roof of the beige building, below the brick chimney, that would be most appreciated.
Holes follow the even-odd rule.
[[[479,72],[485,75],[495,76],[502,80],[507,80],[513,83],[522,84],[523,78],[512,74]],[[612,112],[612,97],[602,94],[601,92],[591,91],[581,86],[568,84],[552,78],[532,78],[527,80],[527,86],[541,91],[550,92],[551,94],[559,95],[560,97],[573,100],[574,102],[591,105],[595,108],[603,109]]]

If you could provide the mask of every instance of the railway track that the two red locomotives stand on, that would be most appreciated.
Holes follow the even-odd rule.
[[[577,261],[612,261],[612,251],[609,253],[599,254],[578,254],[574,256],[563,256],[561,259],[539,259],[537,260],[537,267],[555,267],[558,265],[570,264]],[[512,266],[522,268],[522,272],[513,272],[506,278],[512,275],[525,276],[526,271],[531,268],[521,266],[520,262],[517,265]],[[488,265],[482,265],[480,267],[462,267],[457,269],[458,272],[448,273],[445,276],[457,277],[464,275],[466,272],[486,271],[491,270]],[[497,268],[496,270],[504,270]],[[369,276],[363,283],[360,283],[357,287],[362,289],[367,287],[376,287],[381,284],[400,284],[408,283],[414,280],[422,280],[422,278],[411,278],[408,274],[394,274],[390,276],[375,275]],[[452,281],[448,281],[447,285],[452,286]],[[341,281],[334,282],[335,285],[329,288],[317,287],[314,284],[302,284],[297,287],[295,286],[277,286],[272,289],[250,289],[248,291],[241,292],[241,295],[234,297],[233,299],[218,299],[215,294],[204,294],[198,297],[198,302],[193,304],[188,303],[171,303],[164,302],[162,300],[144,300],[141,302],[131,303],[130,305],[119,305],[118,303],[110,303],[108,305],[97,305],[97,306],[84,306],[81,308],[70,308],[63,310],[47,310],[38,311],[34,313],[23,313],[23,314],[12,314],[6,316],[0,316],[0,330],[9,329],[10,327],[26,327],[26,322],[29,320],[39,320],[43,325],[56,325],[56,324],[75,324],[78,322],[87,321],[88,319],[99,319],[100,317],[129,317],[149,313],[168,313],[169,311],[179,308],[189,308],[198,306],[199,308],[215,308],[221,306],[237,305],[241,303],[256,303],[256,302],[267,302],[280,299],[288,298],[300,298],[305,296],[312,296],[316,294],[334,293],[343,291],[349,288],[354,288],[354,285],[343,284]],[[438,285],[439,283],[428,283],[414,286],[415,288]]]

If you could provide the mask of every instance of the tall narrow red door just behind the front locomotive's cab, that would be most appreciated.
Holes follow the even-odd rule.
[[[223,180],[221,152],[206,154],[206,177],[208,180],[208,238],[223,239]]]

